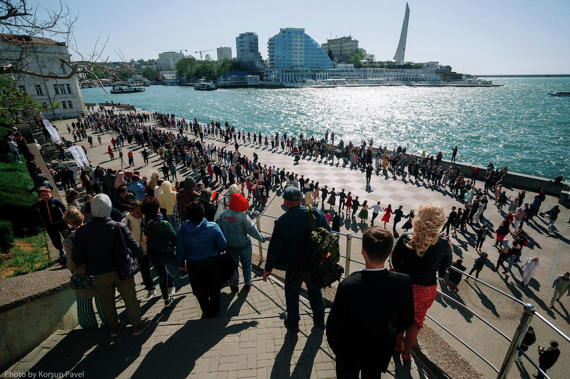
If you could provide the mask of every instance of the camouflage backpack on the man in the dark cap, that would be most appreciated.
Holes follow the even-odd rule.
[[[325,228],[317,228],[312,205],[307,205],[311,223],[311,237],[303,246],[297,261],[295,274],[305,282],[312,282],[317,288],[330,287],[340,281],[344,267],[339,265],[339,236]]]

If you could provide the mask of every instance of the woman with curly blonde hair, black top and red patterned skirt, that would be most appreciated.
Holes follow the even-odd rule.
[[[443,205],[428,203],[417,205],[416,217],[412,221],[413,233],[404,233],[396,243],[392,252],[394,271],[406,274],[412,279],[414,293],[414,324],[406,330],[404,347],[402,338],[398,335],[395,351],[402,353],[405,364],[412,359],[410,350],[420,329],[424,326],[427,310],[437,294],[437,271],[445,270],[451,265],[451,244],[439,235],[446,216]]]

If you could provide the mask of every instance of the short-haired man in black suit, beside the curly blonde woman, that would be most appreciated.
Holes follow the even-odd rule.
[[[362,236],[366,268],[339,283],[327,320],[327,340],[336,355],[339,379],[380,378],[398,333],[414,323],[412,281],[384,267],[394,238],[373,226]]]

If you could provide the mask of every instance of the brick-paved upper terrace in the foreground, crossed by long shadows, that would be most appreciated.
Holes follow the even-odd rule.
[[[336,377],[334,354],[323,329],[312,324],[307,299],[300,302],[300,332],[291,333],[284,327],[285,296],[278,281],[264,283],[256,277],[249,293],[230,293],[226,288],[217,319],[201,319],[188,278],[174,277],[177,291],[168,308],[160,295],[144,299],[140,274],[135,282],[141,311],[152,320],[141,335],[131,336],[131,327],[123,328],[115,339],[106,327],[59,331],[8,371],[26,377],[66,371],[83,373],[86,378]],[[117,304],[120,312],[124,310],[121,304]],[[385,377],[435,379],[416,356],[405,367],[393,359]]]

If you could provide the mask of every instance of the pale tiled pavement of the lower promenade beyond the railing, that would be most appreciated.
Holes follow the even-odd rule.
[[[59,122],[61,127],[59,130],[64,130],[63,124]],[[66,135],[64,133],[63,135]],[[66,135],[66,137],[68,137]],[[71,136],[69,136],[71,138]],[[120,168],[119,162],[117,160],[108,161],[105,156],[106,146],[109,145],[111,136],[109,134],[103,134],[103,147],[95,146],[92,149],[88,149],[89,158],[93,160],[93,163],[99,162],[104,165],[105,168]],[[192,135],[193,138],[193,135]],[[213,142],[216,146],[224,146],[224,143],[219,139],[209,139],[205,138],[204,141]],[[125,145],[127,146],[127,145]],[[131,145],[133,146],[133,145]],[[133,146],[134,147],[134,146]],[[135,168],[139,169],[143,175],[148,174],[150,168],[158,168],[161,166],[161,160],[158,159],[157,155],[150,154],[150,166],[143,166],[142,158],[139,151],[140,147],[133,149],[135,152]],[[431,188],[426,186],[423,182],[415,183],[410,181],[409,178],[403,178],[400,175],[393,175],[391,171],[384,172],[374,172],[372,176],[371,186],[366,186],[366,181],[364,178],[364,173],[360,169],[351,169],[349,167],[343,167],[343,163],[338,164],[336,159],[333,164],[327,164],[325,160],[320,162],[320,159],[312,158],[311,160],[302,158],[298,164],[295,164],[293,157],[286,153],[283,153],[280,149],[275,152],[270,152],[262,147],[253,147],[251,145],[241,146],[239,151],[245,153],[245,155],[253,156],[253,152],[259,155],[259,162],[267,164],[267,166],[275,167],[285,167],[286,171],[294,171],[303,174],[304,177],[310,180],[315,180],[320,182],[321,186],[327,184],[328,188],[335,187],[336,191],[341,188],[345,190],[352,191],[353,196],[360,196],[361,203],[363,200],[368,200],[370,204],[376,203],[380,200],[382,206],[387,204],[392,204],[393,208],[397,205],[404,205],[405,214],[408,213],[409,209],[418,203],[426,201],[438,201],[445,206],[446,211],[450,211],[452,205],[461,207],[461,203],[454,199],[454,197],[449,196],[449,192],[442,190],[441,188]],[[126,154],[125,154],[126,155]],[[95,158],[94,158],[95,157]],[[99,158],[99,159],[97,159]],[[178,179],[184,178],[187,174],[185,168],[180,168],[178,172]],[[480,183],[482,186],[482,183]],[[214,190],[221,190],[221,186],[214,183]],[[516,188],[504,188],[507,190],[507,196],[516,196]],[[281,206],[282,200],[278,198],[282,192],[276,191],[273,195],[277,198],[268,200],[268,206],[264,209],[259,209],[264,214],[278,217],[283,214],[284,209]],[[536,192],[527,191],[526,200],[532,199]],[[319,201],[317,205],[321,207],[322,202]],[[483,213],[484,222],[491,226],[498,226],[502,218],[504,217],[504,212],[497,212],[497,209],[493,203],[493,196],[491,196],[491,201],[488,209]],[[545,211],[552,207],[553,204],[557,203],[557,199],[552,196],[547,196],[545,204],[541,207],[541,211]],[[326,204],[328,208],[328,204]],[[324,208],[321,208],[324,209]],[[354,236],[361,236],[363,230],[369,225],[368,223],[356,222],[354,219],[346,217],[344,212],[341,215],[341,232],[350,232]],[[371,215],[369,215],[371,217]],[[381,218],[381,215],[378,219]],[[377,219],[376,225],[383,225]],[[392,219],[393,220],[393,219]],[[568,234],[568,227],[564,221],[568,220],[568,209],[562,209],[559,219],[555,223],[557,229],[556,233],[548,233],[545,225],[548,220],[543,217],[536,217],[535,221],[528,226],[524,226],[527,232],[530,244],[528,248],[523,248],[523,257],[528,258],[532,256],[539,256],[541,261],[541,267],[538,273],[531,280],[530,286],[521,287],[520,286],[520,272],[517,266],[512,272],[512,275],[497,274],[489,270],[491,265],[494,265],[498,253],[495,248],[492,247],[492,238],[487,238],[483,245],[483,249],[489,254],[489,261],[487,262],[487,267],[485,267],[479,275],[483,281],[490,283],[492,286],[497,287],[502,291],[515,296],[523,300],[524,302],[534,303],[539,312],[551,320],[558,328],[563,332],[570,333],[569,323],[570,314],[568,308],[570,304],[568,303],[568,298],[564,297],[562,303],[556,303],[555,310],[549,310],[549,299],[551,298],[551,287],[550,283],[553,278],[557,275],[564,273],[570,269],[570,236]],[[404,223],[402,220],[398,224],[397,229]],[[272,230],[273,220],[268,217],[260,217],[260,223],[262,224],[262,231],[270,233]],[[388,227],[388,225],[386,225]],[[458,233],[457,236],[452,235],[451,241],[454,244],[454,259],[463,258],[463,264],[470,269],[473,264],[474,259],[477,257],[473,248],[474,236],[477,232],[479,225],[474,225],[473,227],[468,226],[465,234]],[[345,241],[344,237],[341,237],[341,250],[342,254],[345,253]],[[255,241],[254,241],[255,245]],[[360,241],[357,238],[352,240],[352,259],[360,261]],[[257,250],[254,246],[254,254]],[[352,262],[350,271],[355,271],[363,267],[359,263]],[[438,285],[439,289],[444,293],[447,293],[445,284]],[[459,293],[455,296],[460,302],[465,303],[473,311],[477,312],[483,318],[489,320],[494,326],[498,327],[507,335],[511,335],[514,331],[520,314],[522,313],[522,308],[508,298],[498,295],[494,291],[487,289],[482,285],[474,285],[473,283],[465,282],[459,286]],[[449,300],[444,300],[441,296],[438,296],[434,305],[430,308],[429,314],[441,322],[444,326],[450,329],[455,335],[461,339],[467,341],[478,352],[482,353],[483,356],[487,357],[492,364],[495,366],[500,365],[502,361],[503,353],[506,349],[507,341],[500,337],[495,332],[492,332],[490,328],[485,326],[479,320],[473,316],[464,315],[464,312],[460,310],[455,304]],[[564,359],[565,352],[570,354],[570,344],[565,343],[561,338],[557,337],[555,333],[550,331],[548,328],[541,324],[539,320],[533,322],[535,328],[539,329],[537,333],[537,345],[547,345],[548,341],[553,338],[557,338],[560,342],[561,351],[563,356],[556,363],[555,366],[549,373],[552,373],[554,377],[560,375],[565,375],[570,372],[570,359]],[[481,361],[477,356],[469,351],[469,349],[463,347],[459,344],[457,340],[453,339],[445,331],[439,328],[430,320],[426,320],[426,325],[435,329],[435,331],[440,332],[440,335],[445,339],[451,346],[457,349],[467,360],[475,367],[479,372],[483,373],[487,377],[494,376],[494,370],[492,370],[487,364]],[[531,356],[537,360],[538,353],[535,349],[530,349]],[[530,363],[526,362],[522,366],[516,364],[516,368],[522,377],[528,376],[533,372]],[[528,372],[527,372],[528,371]],[[512,371],[511,371],[512,372]]]

